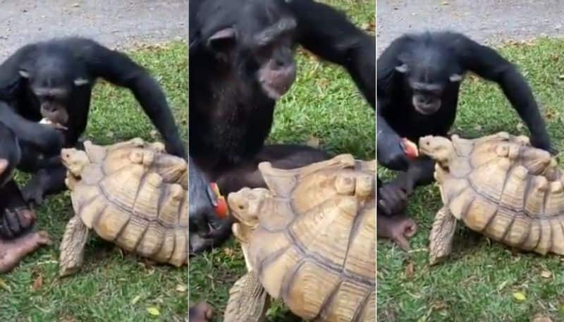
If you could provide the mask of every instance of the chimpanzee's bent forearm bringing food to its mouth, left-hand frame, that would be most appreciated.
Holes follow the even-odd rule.
[[[63,135],[49,125],[26,120],[11,106],[0,102],[0,121],[10,128],[23,144],[31,144],[48,156],[59,154],[63,148]]]

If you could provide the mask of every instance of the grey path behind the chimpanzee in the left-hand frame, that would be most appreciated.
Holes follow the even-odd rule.
[[[188,0],[0,0],[1,59],[28,42],[67,35],[110,47],[182,39]]]

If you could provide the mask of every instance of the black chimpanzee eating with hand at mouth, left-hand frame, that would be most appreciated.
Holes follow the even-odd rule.
[[[91,39],[64,37],[18,49],[0,65],[0,101],[8,103],[27,120],[49,120],[62,130],[64,146],[72,147],[86,128],[90,96],[97,78],[129,88],[161,132],[166,150],[187,157],[157,81],[125,54]],[[37,130],[32,135],[42,134]],[[52,155],[49,160],[50,166],[35,169],[37,173],[23,188],[27,202],[41,204],[46,194],[65,188],[66,170],[59,156]]]

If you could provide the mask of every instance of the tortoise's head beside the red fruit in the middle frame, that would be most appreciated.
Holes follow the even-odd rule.
[[[227,197],[227,204],[233,217],[240,223],[256,228],[259,224],[262,202],[270,195],[270,191],[264,188],[245,187],[238,192],[231,192]]]

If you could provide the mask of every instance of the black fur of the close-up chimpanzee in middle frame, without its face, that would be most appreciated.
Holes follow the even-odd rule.
[[[375,106],[374,36],[355,27],[343,13],[312,0],[190,1],[190,156],[207,180],[217,180],[225,194],[242,186],[264,185],[262,178],[257,178],[256,166],[259,159],[264,160],[260,154],[276,101],[257,82],[259,58],[249,44],[280,18],[296,23],[292,48],[300,44],[346,68]],[[234,28],[236,40],[221,42],[223,51],[218,54],[217,47],[208,45],[209,37],[227,27]],[[288,151],[283,156],[269,154],[266,159],[290,160],[282,166],[295,168],[326,157],[320,151],[295,147]],[[293,157],[288,159],[289,155]],[[190,187],[190,199],[192,195],[195,192]],[[231,226],[226,227],[228,234]]]

